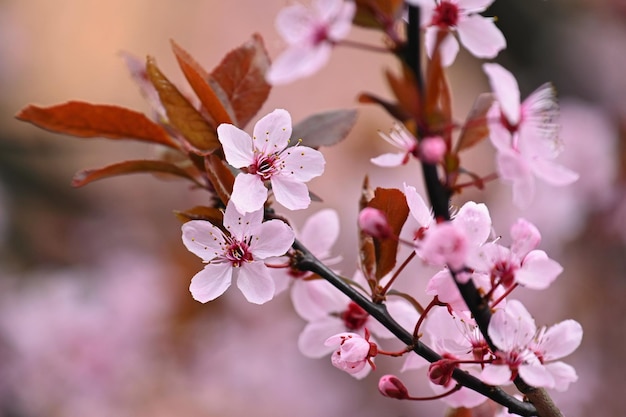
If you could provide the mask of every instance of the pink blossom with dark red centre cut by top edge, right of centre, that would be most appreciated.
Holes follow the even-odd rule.
[[[407,3],[420,8],[428,56],[434,53],[438,32],[446,33],[440,46],[441,63],[449,66],[459,52],[459,43],[452,32],[458,33],[463,46],[477,58],[494,58],[506,47],[504,35],[494,19],[478,14],[493,1],[407,0]]]

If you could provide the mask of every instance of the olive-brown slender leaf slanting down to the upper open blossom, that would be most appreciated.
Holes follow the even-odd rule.
[[[203,153],[211,153],[220,147],[217,132],[159,70],[154,58],[148,57],[146,71],[150,81],[159,92],[159,98],[167,117],[187,141]]]

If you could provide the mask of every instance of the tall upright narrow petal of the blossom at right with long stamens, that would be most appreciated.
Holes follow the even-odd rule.
[[[483,71],[489,77],[491,90],[500,103],[502,113],[512,125],[520,121],[521,105],[517,80],[509,71],[498,64],[483,64]]]

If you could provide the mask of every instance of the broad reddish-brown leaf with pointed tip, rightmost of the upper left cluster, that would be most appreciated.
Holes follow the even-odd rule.
[[[229,52],[211,72],[235,111],[239,127],[244,127],[269,96],[271,86],[265,81],[270,59],[259,34]]]

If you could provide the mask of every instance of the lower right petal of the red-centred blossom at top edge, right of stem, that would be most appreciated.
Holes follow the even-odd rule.
[[[478,14],[467,16],[457,26],[459,39],[477,58],[493,58],[506,48],[506,40],[493,19]]]

